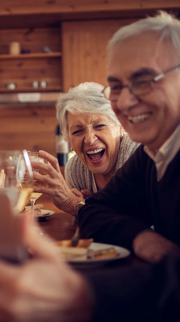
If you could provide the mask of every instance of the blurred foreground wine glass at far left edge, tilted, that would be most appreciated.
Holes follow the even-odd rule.
[[[26,150],[0,151],[0,194],[5,194],[14,214],[21,213],[33,191],[33,173]]]

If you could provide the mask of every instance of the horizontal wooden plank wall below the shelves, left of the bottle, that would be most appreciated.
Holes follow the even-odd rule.
[[[55,153],[56,112],[49,109],[0,109],[0,150],[27,149]]]

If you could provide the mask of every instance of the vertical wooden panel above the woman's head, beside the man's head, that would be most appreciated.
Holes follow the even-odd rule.
[[[107,43],[134,19],[62,23],[64,91],[81,82],[107,84]]]

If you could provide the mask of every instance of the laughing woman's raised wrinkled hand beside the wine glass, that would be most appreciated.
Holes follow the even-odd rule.
[[[49,153],[40,150],[39,155],[46,159],[50,165],[41,162],[31,162],[34,169],[41,170],[47,175],[33,172],[34,180],[39,182],[39,187],[34,187],[34,192],[48,194],[57,208],[66,213],[74,213],[74,206],[82,201],[83,197],[78,197],[69,189],[60,171],[57,159]],[[44,185],[45,187],[42,187]]]

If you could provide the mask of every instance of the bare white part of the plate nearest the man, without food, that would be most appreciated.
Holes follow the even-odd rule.
[[[121,258],[125,258],[130,255],[130,251],[128,251],[126,248],[123,248],[120,246],[115,246],[115,245],[102,244],[102,243],[98,243],[98,242],[93,242],[90,245],[89,249],[97,251],[97,250],[106,249],[109,247],[114,247],[116,249],[116,251],[119,253],[119,255],[117,255],[116,257],[105,258],[105,259],[91,259],[91,258],[88,258],[86,260],[72,259],[72,260],[68,260],[68,262],[78,268],[90,268],[90,267],[103,266],[104,264],[106,264],[109,261],[119,260]]]

